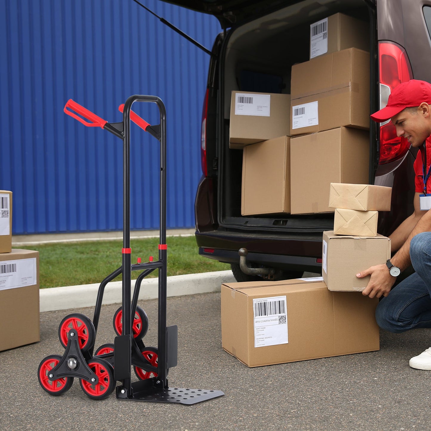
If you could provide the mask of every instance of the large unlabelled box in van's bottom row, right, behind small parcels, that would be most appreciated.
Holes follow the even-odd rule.
[[[333,212],[331,182],[364,183],[368,169],[367,131],[341,127],[290,138],[290,212]]]

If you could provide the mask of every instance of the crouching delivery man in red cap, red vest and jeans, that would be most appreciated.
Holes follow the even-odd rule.
[[[390,119],[397,136],[420,150],[414,163],[415,212],[391,235],[397,253],[356,276],[371,275],[363,295],[383,297],[376,309],[381,328],[395,333],[431,328],[431,84],[412,79],[398,85],[387,106],[371,118],[376,122]],[[415,273],[391,290],[410,263]],[[409,365],[431,370],[431,347],[410,359]]]

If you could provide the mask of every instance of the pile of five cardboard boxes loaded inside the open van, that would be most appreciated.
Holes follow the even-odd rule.
[[[290,95],[232,92],[241,215],[333,212],[331,182],[368,181],[366,26],[340,13],[310,25],[310,60],[292,66]]]

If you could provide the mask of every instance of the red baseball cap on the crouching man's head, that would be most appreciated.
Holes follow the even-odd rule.
[[[371,118],[376,122],[384,122],[403,109],[410,106],[419,106],[426,102],[431,105],[431,84],[417,79],[403,82],[394,88],[389,95],[387,105],[380,111],[372,114]]]

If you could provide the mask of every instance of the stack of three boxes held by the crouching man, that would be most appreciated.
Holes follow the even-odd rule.
[[[390,259],[390,239],[377,233],[378,211],[390,210],[391,187],[331,183],[334,230],[323,233],[322,275],[329,290],[362,291],[356,274]]]

